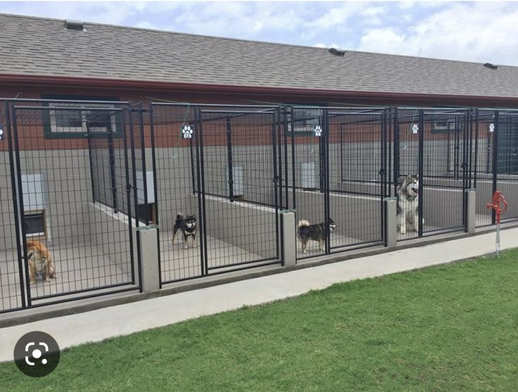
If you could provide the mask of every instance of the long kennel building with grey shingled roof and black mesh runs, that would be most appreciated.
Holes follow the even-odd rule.
[[[280,267],[284,214],[324,223],[298,263],[386,246],[408,174],[397,241],[492,225],[496,189],[518,217],[516,67],[0,22],[0,312]],[[31,241],[57,279],[30,284]]]

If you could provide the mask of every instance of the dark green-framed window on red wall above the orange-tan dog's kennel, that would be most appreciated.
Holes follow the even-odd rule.
[[[68,99],[84,101],[118,101],[113,97],[92,96],[42,96],[43,99]],[[55,110],[46,111],[44,122],[44,134],[47,138],[74,138],[85,137],[87,134],[96,137],[106,137],[109,132],[114,137],[120,137],[122,133],[122,113],[118,110],[104,110],[115,108],[113,104],[102,103],[70,103],[50,102],[49,107]],[[73,107],[85,107],[89,110],[73,110]],[[59,109],[63,107],[63,109]],[[99,107],[103,110],[95,110]]]

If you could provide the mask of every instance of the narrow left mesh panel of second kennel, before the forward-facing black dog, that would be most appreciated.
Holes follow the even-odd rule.
[[[160,282],[200,277],[204,248],[201,196],[196,192],[201,187],[198,110],[157,103],[151,106],[151,120]],[[194,225],[189,229],[191,235],[184,237],[188,216]]]

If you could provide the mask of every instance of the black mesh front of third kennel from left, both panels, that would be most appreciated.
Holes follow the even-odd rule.
[[[322,251],[310,242],[304,254],[299,242],[298,259],[384,244],[387,113],[386,108],[289,108],[289,207],[298,222],[331,219],[337,225],[326,232]]]

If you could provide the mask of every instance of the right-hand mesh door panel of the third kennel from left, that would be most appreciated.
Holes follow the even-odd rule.
[[[388,190],[388,111],[329,108],[331,249],[382,244]]]

